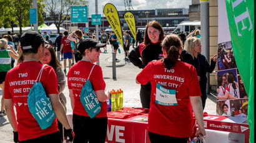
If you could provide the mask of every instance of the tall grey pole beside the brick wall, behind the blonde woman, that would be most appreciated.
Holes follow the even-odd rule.
[[[200,0],[202,55],[209,61],[209,1]],[[210,61],[209,61],[210,62]],[[207,73],[206,93],[209,93],[210,75]]]

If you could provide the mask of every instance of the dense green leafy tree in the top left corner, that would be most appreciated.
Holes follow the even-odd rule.
[[[42,13],[44,4],[42,0],[37,0],[37,19],[42,23]],[[29,9],[32,8],[32,0],[4,0],[0,2],[0,22],[1,26],[13,27],[14,24],[19,26],[19,34],[22,34],[22,27],[29,26]]]

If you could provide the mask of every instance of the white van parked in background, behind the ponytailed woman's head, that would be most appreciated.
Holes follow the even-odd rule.
[[[182,21],[177,27],[174,29],[173,33],[175,32],[191,32],[195,29],[200,29],[201,22],[200,21]]]

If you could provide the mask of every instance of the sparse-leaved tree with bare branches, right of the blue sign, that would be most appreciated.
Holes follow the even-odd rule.
[[[54,21],[57,33],[61,24],[69,17],[71,6],[85,6],[87,3],[86,0],[44,0],[45,11]]]

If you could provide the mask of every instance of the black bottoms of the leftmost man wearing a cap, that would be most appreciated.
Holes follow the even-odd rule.
[[[37,137],[35,139],[28,139],[25,141],[19,141],[19,143],[61,143],[61,138],[59,131],[54,132],[52,134],[47,134],[41,137]]]

